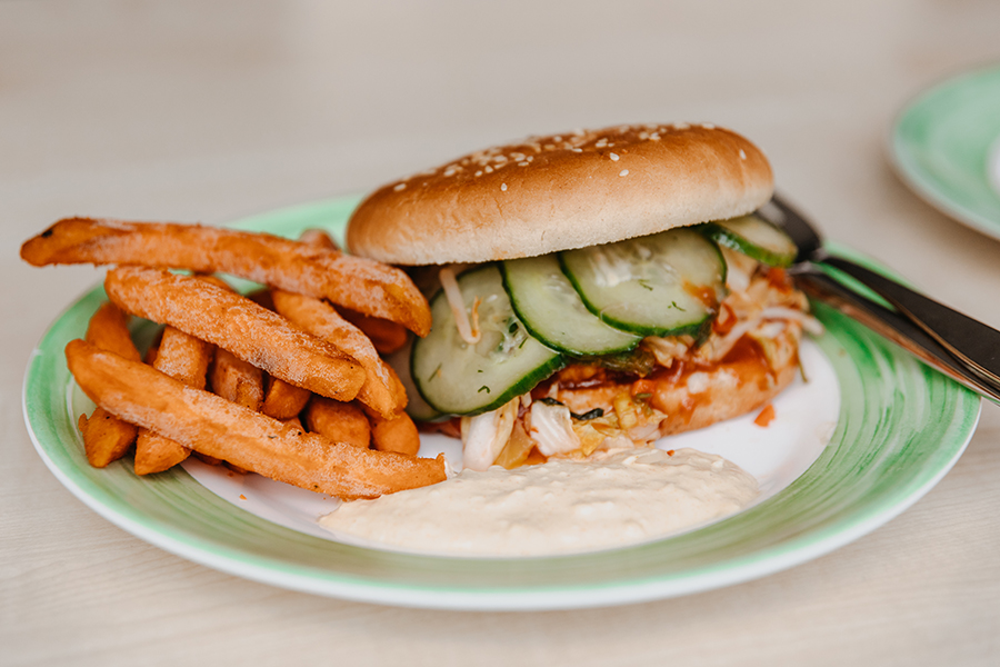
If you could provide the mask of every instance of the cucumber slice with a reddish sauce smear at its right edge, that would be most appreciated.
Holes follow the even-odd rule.
[[[726,289],[722,253],[690,229],[569,250],[559,261],[591,312],[641,336],[699,331]]]

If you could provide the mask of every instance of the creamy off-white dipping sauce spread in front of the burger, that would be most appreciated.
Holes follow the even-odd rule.
[[[464,470],[346,502],[320,525],[409,551],[547,556],[661,538],[731,515],[757,495],[757,480],[722,457],[632,449],[600,461]]]

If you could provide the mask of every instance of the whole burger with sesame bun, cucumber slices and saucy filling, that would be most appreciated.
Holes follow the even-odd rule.
[[[766,407],[817,322],[773,176],[711,125],[532,137],[391,182],[347,230],[410,267],[433,323],[397,356],[463,466],[587,458]]]

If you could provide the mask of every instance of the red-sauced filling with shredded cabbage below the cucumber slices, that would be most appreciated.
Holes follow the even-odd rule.
[[[746,263],[746,262],[744,262]],[[730,265],[733,267],[733,265]],[[740,271],[739,269],[743,269]],[[499,451],[493,465],[517,467],[549,457],[586,458],[598,449],[649,446],[661,436],[708,426],[718,420],[718,396],[739,396],[752,387],[752,405],[787,384],[798,365],[803,328],[819,322],[808,301],[782,269],[739,267],[730,293],[702,340],[692,336],[648,337],[629,355],[570,365],[498,410],[517,416],[494,419],[502,434],[483,442],[464,441],[482,468],[482,451]],[[749,270],[748,270],[749,269]],[[731,401],[727,401],[729,404]],[[726,405],[729,416],[733,406]],[[456,418],[443,432],[469,428]],[[464,428],[458,428],[459,425]]]

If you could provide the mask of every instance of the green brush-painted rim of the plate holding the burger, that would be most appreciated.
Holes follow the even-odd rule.
[[[243,229],[342,230],[358,199],[283,209]],[[962,388],[822,305],[817,339],[840,387],[829,445],[790,485],[731,518],[637,547],[551,558],[463,559],[331,541],[246,511],[182,468],[140,479],[83,456],[66,368],[103,300],[96,288],[52,323],[24,379],[24,417],[49,469],[94,511],[158,547],[237,576],[370,603],[448,609],[566,609],[636,603],[750,580],[827,554],[890,520],[951,468],[979,418]]]

